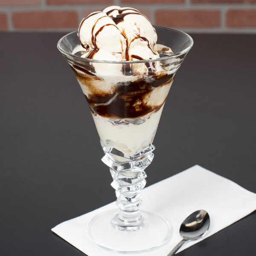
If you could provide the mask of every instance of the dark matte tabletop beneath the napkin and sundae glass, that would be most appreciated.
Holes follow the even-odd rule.
[[[0,33],[3,256],[83,255],[51,228],[115,200],[89,108],[56,48],[62,35]],[[199,164],[256,192],[256,35],[192,37],[147,186]],[[255,255],[255,228],[253,212],[179,255]]]

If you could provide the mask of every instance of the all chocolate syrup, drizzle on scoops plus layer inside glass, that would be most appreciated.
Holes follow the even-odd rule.
[[[126,15],[134,14],[134,15],[143,15],[139,11],[133,8],[125,8],[125,9],[112,9],[106,12],[106,15],[111,14],[114,10],[118,11],[118,15],[116,17],[113,16],[108,16],[111,17],[112,20],[114,21],[115,24],[118,24],[122,21],[124,21],[124,17]],[[135,12],[126,12],[123,13],[126,10],[133,10]],[[96,12],[99,13],[99,12]],[[94,13],[94,14],[96,14]],[[79,26],[79,32],[81,29],[81,25],[86,20],[88,17],[94,15],[91,14],[84,18]],[[143,15],[144,16],[144,15]],[[103,16],[106,17],[106,16]],[[145,16],[144,16],[145,17]],[[101,19],[102,17],[99,17]],[[146,17],[147,18],[147,17]],[[96,54],[96,52],[99,51],[97,47],[97,41],[96,37],[99,35],[99,33],[104,29],[105,26],[116,26],[114,24],[108,23],[105,24],[104,26],[101,26],[96,33],[94,33],[94,29],[96,26],[96,23],[99,21],[96,20],[92,27],[91,31],[91,42],[93,44],[93,49],[90,51],[90,53],[87,55],[87,58],[93,58],[93,56]],[[117,28],[117,27],[116,27]],[[135,39],[140,39],[142,41],[147,42],[147,46],[151,51],[154,52],[154,49],[152,49],[151,44],[149,43],[148,39],[137,35],[136,38],[133,38],[131,42],[128,42],[128,38],[125,35],[124,32],[122,32],[122,35],[125,38],[126,41],[126,49],[125,49],[125,61],[129,61],[129,47],[132,41]],[[82,52],[77,53],[78,55],[82,54]],[[135,58],[138,60],[143,60],[142,57],[138,55],[131,55],[131,58]],[[87,99],[87,102],[90,106],[90,110],[92,111],[93,114],[98,114],[102,117],[107,117],[107,118],[122,118],[122,119],[133,119],[133,118],[139,118],[142,116],[147,115],[148,113],[153,113],[155,111],[158,111],[162,105],[156,105],[156,106],[151,106],[147,104],[147,101],[145,100],[146,97],[150,97],[150,94],[152,93],[152,90],[154,90],[155,87],[159,86],[164,86],[165,84],[170,83],[174,77],[173,74],[165,74],[163,76],[156,76],[155,71],[156,71],[156,62],[151,61],[151,62],[145,62],[144,63],[146,67],[148,68],[148,76],[139,79],[137,81],[129,81],[129,82],[119,82],[116,84],[116,90],[113,93],[99,93],[99,91],[94,91],[89,90],[91,92],[90,95],[85,96]],[[92,66],[92,63],[88,62],[88,67],[83,67],[82,65],[77,66],[73,65],[73,70],[76,73],[77,78],[79,81],[84,84],[87,87],[93,86],[92,82],[95,82],[94,80],[101,80],[98,78],[95,74],[95,69]],[[84,72],[84,75],[81,75],[80,73],[77,72],[77,70],[81,70]],[[131,64],[129,63],[124,63],[122,64],[122,72],[125,75],[133,75],[133,71],[131,69]],[[90,76],[87,76],[87,75]],[[93,89],[93,88],[90,88]]]

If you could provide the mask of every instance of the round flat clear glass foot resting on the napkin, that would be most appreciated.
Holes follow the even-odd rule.
[[[139,229],[116,228],[118,209],[103,212],[89,223],[89,236],[100,247],[119,253],[141,253],[160,247],[169,241],[171,226],[155,212],[143,211],[143,225]]]

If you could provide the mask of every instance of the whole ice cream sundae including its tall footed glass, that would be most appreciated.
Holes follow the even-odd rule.
[[[137,9],[119,6],[92,12],[58,42],[87,99],[116,190],[119,211],[101,212],[88,224],[102,248],[141,253],[169,241],[169,222],[140,211],[140,191],[166,97],[192,45],[186,33],[153,27]]]

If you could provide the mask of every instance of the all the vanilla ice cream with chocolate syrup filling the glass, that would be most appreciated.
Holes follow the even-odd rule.
[[[159,59],[172,50],[157,44],[154,27],[133,8],[93,12],[81,21],[78,35],[81,45],[72,53],[85,61],[70,65],[99,137],[105,146],[137,154],[154,139],[180,63]]]

